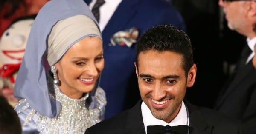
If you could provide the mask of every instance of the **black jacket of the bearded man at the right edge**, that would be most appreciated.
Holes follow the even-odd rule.
[[[252,61],[223,87],[214,109],[240,120],[244,134],[256,134],[256,70]]]

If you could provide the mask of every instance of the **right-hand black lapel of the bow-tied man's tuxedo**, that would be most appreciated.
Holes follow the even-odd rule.
[[[212,126],[208,126],[201,112],[195,105],[184,100],[189,110],[189,134],[211,134]]]

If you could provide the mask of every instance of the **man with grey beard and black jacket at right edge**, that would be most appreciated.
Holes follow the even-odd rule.
[[[244,134],[256,134],[256,1],[219,0],[219,6],[224,10],[229,29],[246,36],[247,45],[219,92],[214,109],[240,120]]]

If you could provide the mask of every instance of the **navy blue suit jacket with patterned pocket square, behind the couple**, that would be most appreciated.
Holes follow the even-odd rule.
[[[90,3],[90,0],[84,1]],[[111,37],[133,27],[138,29],[140,37],[148,28],[160,24],[171,24],[186,31],[180,13],[165,0],[122,0],[102,31],[105,68],[100,86],[107,97],[105,119],[131,108],[140,99],[134,67],[135,44],[113,46]]]

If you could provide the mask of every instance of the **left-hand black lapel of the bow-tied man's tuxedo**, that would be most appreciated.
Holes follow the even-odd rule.
[[[129,110],[125,125],[125,134],[145,134],[141,103],[142,100],[139,100],[139,102]]]

